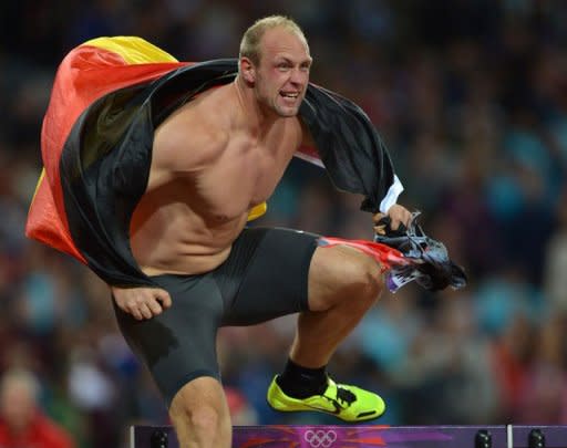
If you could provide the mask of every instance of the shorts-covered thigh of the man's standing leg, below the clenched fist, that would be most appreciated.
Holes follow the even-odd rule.
[[[172,295],[169,309],[144,321],[114,309],[122,334],[169,405],[186,383],[203,376],[219,378],[216,335],[223,299],[207,275],[164,274],[153,279]]]

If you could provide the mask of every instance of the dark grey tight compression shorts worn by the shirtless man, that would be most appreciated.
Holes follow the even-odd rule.
[[[122,334],[150,368],[168,406],[187,382],[199,376],[220,379],[219,326],[252,325],[308,310],[309,264],[318,238],[288,229],[247,228],[214,271],[152,278],[172,298],[162,314],[136,321],[113,300]]]

